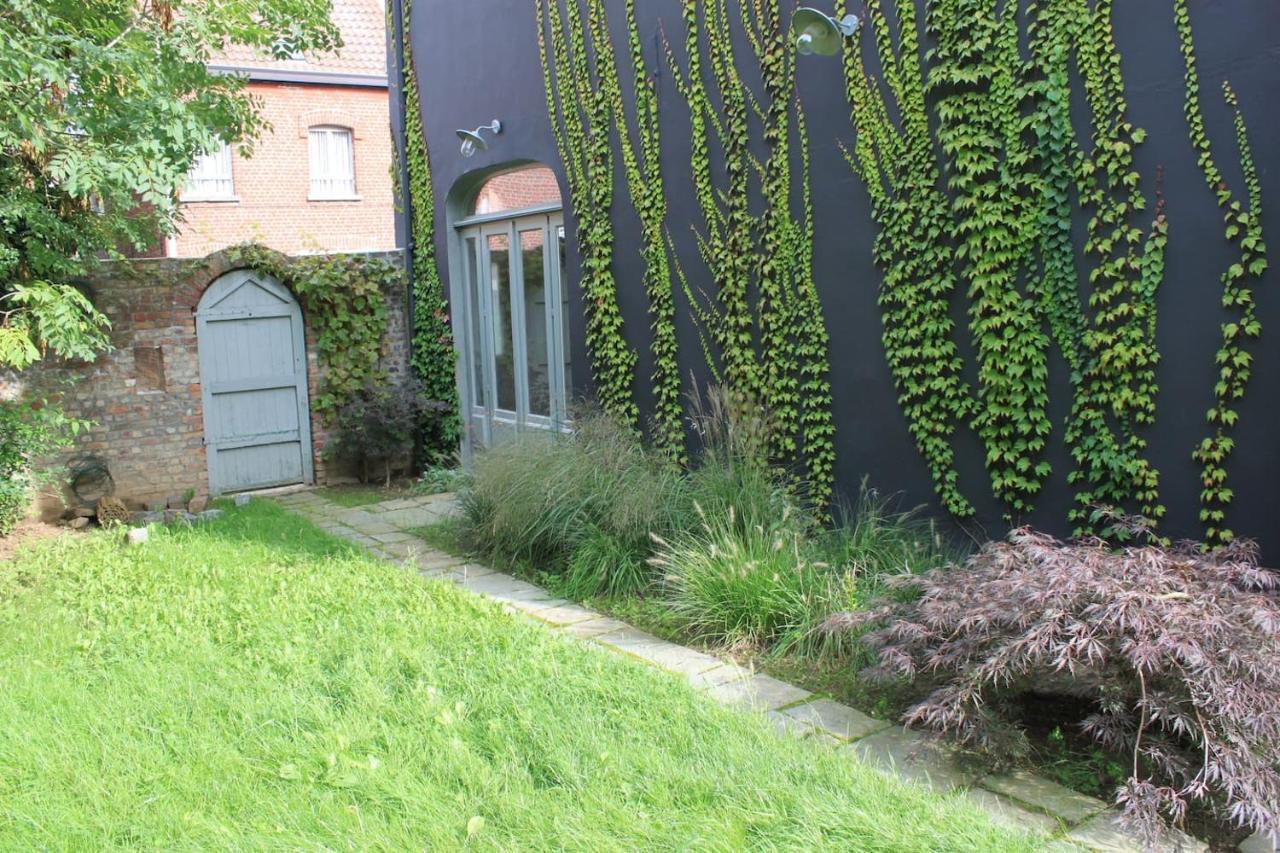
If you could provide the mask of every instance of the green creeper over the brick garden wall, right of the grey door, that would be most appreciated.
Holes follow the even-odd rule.
[[[321,380],[312,409],[325,424],[366,387],[381,384],[387,300],[404,288],[404,270],[360,255],[285,257],[256,245],[236,246],[233,265],[271,275],[293,291],[315,336]]]

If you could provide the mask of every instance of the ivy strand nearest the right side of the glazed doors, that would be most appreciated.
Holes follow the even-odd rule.
[[[595,394],[604,411],[637,425],[640,411],[631,393],[636,353],[622,334],[613,278],[614,99],[600,82],[602,59],[588,51],[579,0],[568,0],[563,12],[558,0],[538,0],[536,13],[547,113],[577,220]]]

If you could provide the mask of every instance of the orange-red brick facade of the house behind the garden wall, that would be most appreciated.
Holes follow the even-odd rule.
[[[183,205],[169,255],[204,257],[244,242],[285,254],[396,248],[392,138],[385,88],[256,82],[271,123],[252,158],[232,158],[236,201]],[[311,201],[307,128],[351,128],[358,201]]]

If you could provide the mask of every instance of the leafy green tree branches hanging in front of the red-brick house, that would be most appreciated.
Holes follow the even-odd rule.
[[[13,0],[0,10],[0,366],[87,359],[106,320],[70,284],[172,232],[195,158],[266,128],[212,51],[328,53],[329,0]]]

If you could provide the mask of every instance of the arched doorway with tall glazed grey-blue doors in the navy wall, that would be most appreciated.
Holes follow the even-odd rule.
[[[467,442],[568,421],[564,218],[550,169],[522,165],[454,196],[451,270]]]

